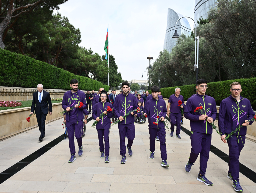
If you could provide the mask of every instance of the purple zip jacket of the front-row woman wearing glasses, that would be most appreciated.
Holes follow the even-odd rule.
[[[98,102],[95,104],[94,111],[92,113],[93,119],[96,120],[97,117],[100,117],[104,111],[107,110],[108,106],[113,109],[112,104],[109,102]],[[111,121],[110,119],[113,117],[113,111],[108,112],[101,120],[96,124],[96,129],[110,129]]]

